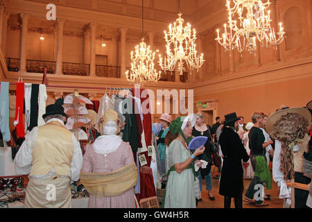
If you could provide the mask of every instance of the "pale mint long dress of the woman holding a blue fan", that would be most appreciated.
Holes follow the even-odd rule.
[[[182,163],[191,157],[182,143],[175,139],[168,147],[169,165]],[[195,181],[192,169],[172,171],[166,185],[164,208],[196,208]]]

